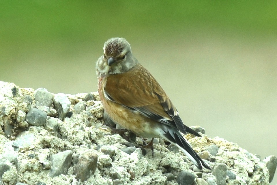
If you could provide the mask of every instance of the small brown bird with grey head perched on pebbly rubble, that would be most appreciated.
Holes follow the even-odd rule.
[[[201,137],[183,124],[156,79],[133,56],[124,38],[110,38],[96,62],[98,93],[113,122],[144,138],[160,137],[183,151],[198,169],[211,169],[181,135]]]

